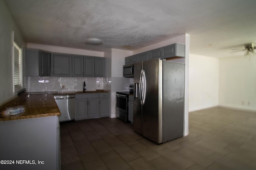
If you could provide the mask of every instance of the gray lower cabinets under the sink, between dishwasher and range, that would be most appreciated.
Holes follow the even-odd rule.
[[[109,93],[76,94],[75,120],[107,117],[110,112]]]

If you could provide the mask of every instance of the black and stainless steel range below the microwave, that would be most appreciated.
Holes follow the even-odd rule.
[[[130,85],[129,91],[116,92],[116,117],[126,123],[128,120],[128,96],[133,94],[134,85]]]

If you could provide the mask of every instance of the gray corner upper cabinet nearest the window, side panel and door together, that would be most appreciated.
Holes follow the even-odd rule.
[[[51,76],[50,53],[38,49],[25,50],[25,76]]]

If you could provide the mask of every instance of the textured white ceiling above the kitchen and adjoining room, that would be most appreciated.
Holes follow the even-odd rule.
[[[256,0],[5,1],[28,43],[133,51],[188,33],[190,53],[229,57],[256,42]]]

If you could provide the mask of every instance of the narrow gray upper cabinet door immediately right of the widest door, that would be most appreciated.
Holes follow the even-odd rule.
[[[84,76],[84,56],[72,55],[72,76]]]

